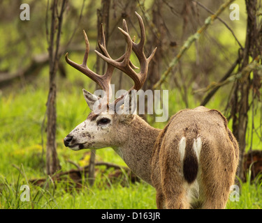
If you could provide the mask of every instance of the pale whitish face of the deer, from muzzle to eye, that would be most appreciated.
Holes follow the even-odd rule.
[[[110,146],[110,128],[113,123],[112,115],[99,114],[92,120],[87,118],[76,126],[68,136],[73,137],[68,147],[74,151],[82,148],[104,148]]]

